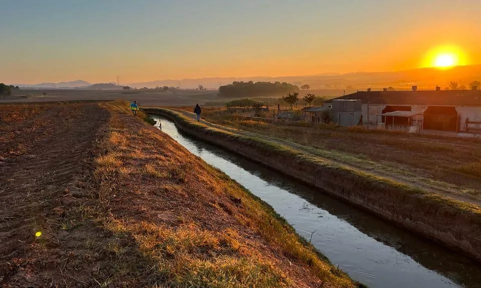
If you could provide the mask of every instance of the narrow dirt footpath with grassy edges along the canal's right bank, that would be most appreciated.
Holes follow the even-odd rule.
[[[178,113],[181,113],[185,116],[188,116],[191,119],[196,120],[196,116],[195,116],[194,113],[191,113],[191,112],[188,112],[188,111],[185,111],[185,110],[180,110],[180,109],[175,109],[175,111],[178,112]],[[429,191],[429,192],[441,194],[441,195],[446,196],[446,197],[450,197],[450,198],[453,198],[453,199],[456,199],[456,200],[460,200],[460,201],[464,201],[464,202],[468,202],[468,203],[471,203],[471,204],[481,206],[481,201],[479,201],[477,199],[474,199],[474,198],[471,198],[471,197],[468,197],[468,196],[466,196],[466,194],[463,194],[462,192],[457,192],[455,190],[455,187],[453,187],[449,183],[440,182],[440,181],[426,181],[426,179],[424,179],[424,178],[418,178],[418,177],[415,177],[415,176],[413,177],[412,175],[409,175],[409,174],[403,175],[403,174],[399,173],[398,171],[391,171],[391,170],[388,170],[388,169],[383,169],[384,167],[382,167],[382,166],[380,166],[380,167],[366,167],[365,165],[363,165],[363,163],[342,162],[342,161],[340,161],[339,158],[332,159],[332,158],[326,157],[325,154],[323,154],[321,150],[313,148],[313,147],[308,147],[308,146],[304,146],[304,145],[294,143],[294,142],[291,142],[291,141],[287,141],[287,140],[283,140],[283,139],[279,139],[279,138],[274,138],[274,137],[269,137],[269,136],[249,132],[249,131],[244,131],[244,130],[239,130],[239,129],[235,129],[235,128],[231,128],[231,127],[217,125],[217,124],[214,124],[214,123],[208,122],[206,120],[202,120],[202,119],[201,119],[200,122],[204,125],[207,125],[209,127],[214,127],[216,129],[219,129],[219,130],[223,130],[223,131],[227,131],[227,132],[235,133],[235,134],[240,134],[240,135],[245,135],[245,136],[249,136],[249,137],[261,138],[264,141],[269,141],[269,142],[273,142],[273,143],[276,143],[276,144],[279,144],[279,145],[282,145],[282,146],[286,146],[286,147],[297,150],[297,151],[299,151],[299,152],[301,152],[301,153],[303,153],[307,156],[310,156],[312,158],[315,158],[315,159],[318,159],[318,160],[321,160],[321,161],[327,161],[329,163],[341,165],[341,166],[349,168],[349,169],[355,169],[355,170],[361,171],[361,172],[366,173],[366,174],[383,177],[383,178],[386,178],[386,179],[389,179],[389,180],[393,180],[393,181],[396,181],[396,182],[403,183],[403,184],[408,185],[408,186],[418,187],[418,188],[421,188],[421,189]]]

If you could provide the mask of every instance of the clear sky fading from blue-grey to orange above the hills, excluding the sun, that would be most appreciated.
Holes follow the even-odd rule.
[[[439,47],[481,63],[476,0],[16,0],[3,10],[9,83],[399,71],[429,66]]]

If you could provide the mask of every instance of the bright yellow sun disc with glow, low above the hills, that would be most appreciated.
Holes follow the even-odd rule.
[[[467,65],[464,51],[457,46],[438,46],[427,52],[424,67],[447,69],[458,65]]]

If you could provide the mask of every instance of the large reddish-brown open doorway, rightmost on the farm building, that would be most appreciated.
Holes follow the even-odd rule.
[[[456,107],[428,106],[424,112],[424,126],[426,130],[457,131]]]

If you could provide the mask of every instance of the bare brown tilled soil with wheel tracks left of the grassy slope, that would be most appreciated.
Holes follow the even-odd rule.
[[[10,124],[14,134],[0,144],[0,283],[48,282],[54,276],[48,268],[32,274],[29,265],[50,266],[58,274],[60,263],[65,268],[75,259],[56,248],[69,250],[82,237],[55,234],[59,225],[75,225],[62,219],[90,189],[93,140],[108,115],[98,104],[57,104],[35,119]],[[37,239],[37,231],[44,236]]]

